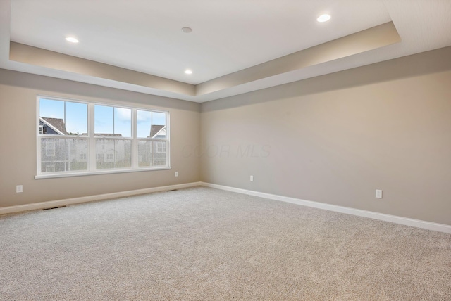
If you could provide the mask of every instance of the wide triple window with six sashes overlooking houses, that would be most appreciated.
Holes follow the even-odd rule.
[[[37,177],[170,168],[167,112],[37,101]]]

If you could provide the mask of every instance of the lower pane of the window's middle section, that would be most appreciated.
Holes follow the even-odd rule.
[[[96,139],[96,167],[98,169],[132,166],[131,140]]]

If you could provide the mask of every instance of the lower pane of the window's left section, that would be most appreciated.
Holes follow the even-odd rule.
[[[41,172],[74,170],[87,170],[87,139],[41,139]]]

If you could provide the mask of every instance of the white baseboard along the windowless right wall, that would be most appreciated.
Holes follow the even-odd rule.
[[[366,211],[366,210],[354,209],[354,208],[350,208],[350,207],[342,207],[342,206],[338,206],[338,205],[330,205],[330,204],[326,204],[326,203],[314,202],[311,200],[301,200],[299,198],[290,198],[287,196],[277,196],[275,194],[270,194],[270,193],[261,193],[258,191],[250,191],[250,190],[246,190],[246,189],[222,186],[222,185],[217,185],[217,184],[210,184],[210,183],[205,183],[205,182],[201,182],[201,184],[202,184],[202,186],[217,188],[217,189],[226,190],[226,191],[233,191],[233,192],[237,192],[237,193],[243,193],[243,194],[247,194],[249,196],[258,196],[260,198],[268,198],[271,200],[280,200],[283,202],[293,203],[293,204],[307,206],[307,207],[315,207],[315,208],[324,209],[324,210],[330,210],[330,211],[335,211],[335,212],[357,215],[359,217],[369,217],[371,219],[379,219],[379,220],[385,221],[385,222],[393,222],[396,224],[403,224],[406,226],[414,226],[414,227],[422,228],[422,229],[428,229],[428,230],[439,231],[439,232],[444,232],[444,233],[451,233],[451,225],[446,225],[446,224],[437,224],[437,223],[433,223],[433,222],[422,221],[419,219],[409,219],[407,217],[397,217],[396,215],[371,212],[371,211]]]

